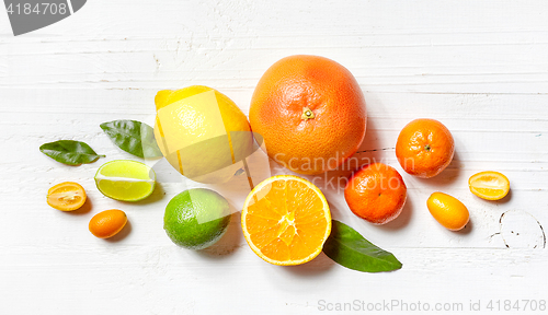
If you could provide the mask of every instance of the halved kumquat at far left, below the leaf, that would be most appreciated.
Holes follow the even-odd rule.
[[[61,211],[72,211],[82,207],[87,196],[78,183],[65,182],[47,190],[47,205]]]

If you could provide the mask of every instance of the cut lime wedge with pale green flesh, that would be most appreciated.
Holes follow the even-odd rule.
[[[115,160],[99,167],[95,184],[99,191],[106,197],[122,201],[139,201],[155,190],[156,173],[140,162]]]

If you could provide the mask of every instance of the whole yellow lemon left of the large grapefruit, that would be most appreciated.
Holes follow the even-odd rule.
[[[253,150],[246,115],[220,92],[202,85],[159,91],[155,136],[163,156],[185,177],[226,183]]]

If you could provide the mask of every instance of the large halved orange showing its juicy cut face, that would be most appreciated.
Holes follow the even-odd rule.
[[[312,260],[331,233],[326,197],[293,175],[270,177],[248,196],[241,213],[243,236],[267,262],[290,266]]]

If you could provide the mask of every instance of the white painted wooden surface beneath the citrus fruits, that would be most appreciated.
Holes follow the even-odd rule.
[[[548,299],[548,252],[535,225],[548,224],[547,21],[544,0],[94,0],[14,37],[0,13],[0,313],[322,314],[336,313],[322,305],[396,300],[431,310],[463,303],[454,314],[470,313],[470,301],[481,302],[481,314],[547,314],[532,305],[524,312],[523,302],[522,311],[504,311],[504,300]],[[220,244],[185,250],[162,220],[170,198],[191,184],[158,174],[159,189],[138,203],[94,187],[102,163],[135,159],[99,124],[150,122],[158,90],[191,84],[216,88],[248,113],[261,74],[295,54],[331,58],[356,77],[369,115],[362,149],[386,149],[361,158],[402,172],[396,138],[419,117],[439,119],[455,137],[455,160],[442,175],[422,180],[402,172],[408,205],[387,226],[357,219],[341,191],[323,189],[333,217],[392,252],[401,270],[361,273],[323,254],[298,267],[271,266],[247,246],[238,213]],[[38,151],[58,139],[85,141],[107,158],[61,165]],[[468,177],[486,170],[510,178],[509,198],[490,202],[468,191]],[[49,208],[47,189],[65,180],[82,184],[91,207]],[[435,190],[468,206],[465,232],[430,215],[425,200]],[[237,208],[244,197],[227,196]],[[93,237],[89,220],[110,208],[124,210],[129,226],[112,241]],[[381,313],[410,313],[399,310]]]

